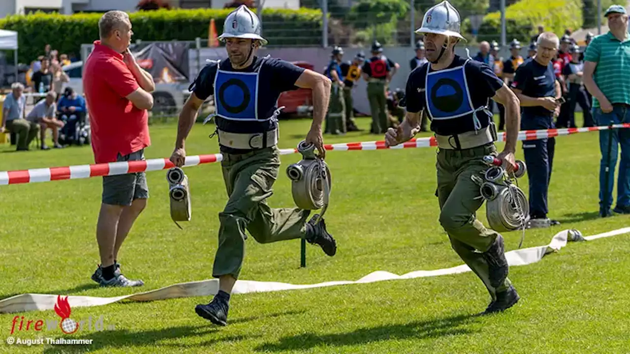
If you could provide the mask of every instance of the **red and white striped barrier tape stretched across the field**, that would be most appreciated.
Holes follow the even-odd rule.
[[[543,130],[522,130],[518,132],[518,140],[537,140],[571,135],[585,132],[595,132],[610,128],[630,128],[630,123],[615,124],[610,127],[588,128],[564,128]],[[498,134],[499,141],[505,141],[505,133]],[[412,147],[436,147],[435,137],[411,139],[397,146],[387,147],[384,140],[368,142],[343,142],[340,144],[326,144],[324,149],[332,151],[352,150],[380,150],[380,149],[407,149]],[[297,154],[297,149],[280,149],[280,154]],[[215,163],[223,159],[222,154],[187,156],[185,167],[199,164]],[[120,163],[89,164],[53,168],[34,168],[17,171],[0,171],[0,185],[16,185],[19,183],[48,182],[58,180],[75,180],[77,178],[90,178],[98,176],[113,176],[134,172],[159,171],[169,169],[174,165],[169,159],[148,159],[145,161],[129,161]]]

